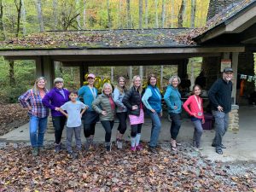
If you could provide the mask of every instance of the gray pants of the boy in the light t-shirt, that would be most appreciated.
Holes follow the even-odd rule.
[[[72,138],[73,132],[75,133],[76,138],[76,148],[81,150],[81,126],[77,127],[67,127],[67,151],[72,152]]]

